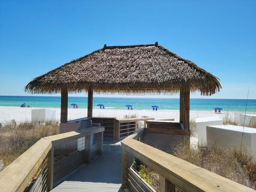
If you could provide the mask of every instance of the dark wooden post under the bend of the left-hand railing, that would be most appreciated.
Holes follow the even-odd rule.
[[[52,188],[53,188],[53,163],[54,163],[54,148],[53,147],[49,151],[47,158],[48,158],[47,188],[49,190],[52,190]]]

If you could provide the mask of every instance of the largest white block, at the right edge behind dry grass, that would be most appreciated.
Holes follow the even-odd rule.
[[[256,129],[235,125],[210,125],[206,127],[207,145],[219,145],[223,148],[236,147],[256,157]],[[243,140],[242,140],[243,134]]]

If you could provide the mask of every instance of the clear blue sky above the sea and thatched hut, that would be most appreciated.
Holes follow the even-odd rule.
[[[31,79],[104,44],[158,41],[219,77],[209,98],[245,99],[250,85],[256,99],[256,1],[0,2],[0,95],[28,95]]]

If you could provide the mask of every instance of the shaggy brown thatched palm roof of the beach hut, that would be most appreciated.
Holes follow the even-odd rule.
[[[29,82],[31,93],[86,91],[178,92],[180,87],[209,95],[219,91],[218,78],[195,63],[156,44],[104,46]]]

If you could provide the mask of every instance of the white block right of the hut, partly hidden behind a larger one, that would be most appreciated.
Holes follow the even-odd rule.
[[[197,139],[200,146],[207,145],[206,138],[206,126],[207,125],[223,125],[223,121],[220,117],[202,117],[196,118],[196,132]]]

